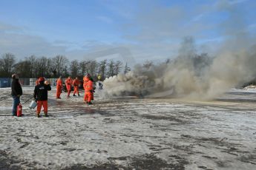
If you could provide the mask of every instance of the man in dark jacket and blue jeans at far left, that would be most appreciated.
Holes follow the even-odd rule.
[[[11,95],[13,96],[13,116],[17,115],[17,106],[20,103],[20,96],[22,95],[22,86],[19,83],[19,76],[16,74],[12,75],[12,92]]]

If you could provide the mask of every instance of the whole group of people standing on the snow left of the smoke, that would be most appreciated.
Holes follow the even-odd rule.
[[[19,106],[20,103],[20,96],[22,95],[22,86],[19,83],[19,76],[16,74],[12,75],[12,85],[11,85],[11,95],[13,97],[13,116],[17,115],[17,106]],[[79,95],[79,84],[81,82],[76,77],[74,80],[72,80],[70,77],[68,77],[65,80],[65,86],[68,91],[68,98],[70,98],[70,92],[73,85],[73,96],[76,96],[76,93]],[[83,87],[85,89],[85,97],[84,101],[85,103],[88,103],[91,105],[91,101],[93,101],[93,79],[91,78],[90,74],[85,75],[83,78]],[[60,95],[62,93],[63,84],[62,84],[62,77],[59,77],[56,81],[56,99],[60,99]],[[33,98],[35,99],[37,103],[36,108],[36,115],[37,117],[40,117],[40,112],[42,109],[42,106],[44,108],[44,114],[45,117],[47,117],[47,92],[51,90],[50,81],[46,81],[45,78],[40,77],[36,80],[36,86],[33,92]]]

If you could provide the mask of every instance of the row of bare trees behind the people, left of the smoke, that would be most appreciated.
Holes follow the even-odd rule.
[[[16,62],[15,55],[11,53],[5,53],[0,58],[0,78],[10,78],[13,72],[19,74],[21,78],[37,78],[39,76],[46,78],[71,76],[75,78],[89,73],[93,78],[98,78],[100,75],[101,81],[103,81],[105,78],[117,75],[120,72],[126,73],[130,70],[128,64],[124,65],[122,61],[69,61],[65,55],[56,55],[53,58],[30,55],[19,62]]]

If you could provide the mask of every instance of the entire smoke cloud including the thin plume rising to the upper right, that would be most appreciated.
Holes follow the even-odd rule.
[[[243,15],[228,2],[217,4],[217,9],[229,13],[229,18],[221,25],[225,40],[216,56],[198,55],[194,39],[186,37],[173,61],[137,65],[126,75],[106,79],[108,96],[208,100],[255,78],[255,41],[246,33]]]

